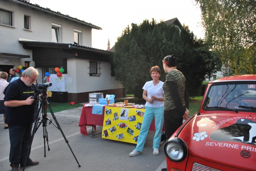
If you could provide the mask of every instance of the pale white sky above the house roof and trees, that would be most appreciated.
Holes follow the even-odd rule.
[[[194,0],[30,0],[44,8],[91,23],[102,30],[92,29],[92,48],[107,50],[132,23],[143,20],[156,22],[178,18],[197,38],[204,38],[201,11]]]

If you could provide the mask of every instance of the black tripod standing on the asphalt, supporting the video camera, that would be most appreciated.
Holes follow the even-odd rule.
[[[30,153],[30,150],[31,150],[31,145],[32,145],[32,141],[34,139],[34,135],[37,131],[37,129],[39,128],[39,126],[41,125],[42,123],[42,126],[43,126],[43,137],[44,137],[44,157],[46,157],[46,146],[45,146],[45,142],[47,142],[47,145],[48,145],[48,151],[50,151],[50,148],[49,148],[49,144],[48,144],[48,135],[47,135],[47,129],[46,129],[46,126],[47,126],[47,121],[49,121],[49,125],[52,123],[55,127],[57,127],[60,132],[62,133],[62,136],[64,137],[66,143],[68,144],[68,147],[70,149],[70,151],[72,152],[74,158],[76,159],[76,156],[74,154],[74,152],[72,151],[69,143],[68,143],[68,140],[66,139],[57,119],[56,119],[56,116],[54,115],[51,107],[50,107],[50,104],[48,103],[47,99],[46,99],[46,90],[43,90],[43,91],[40,91],[37,93],[36,97],[38,96],[39,93],[41,93],[41,99],[42,101],[40,101],[40,103],[38,104],[39,107],[36,109],[36,121],[35,121],[35,124],[34,124],[34,128],[33,128],[33,131],[32,131],[32,136],[31,136],[31,139],[30,139],[30,142],[29,142],[29,149],[28,149],[28,153],[26,155],[26,160],[25,160],[25,163],[24,163],[24,167],[23,167],[23,171],[26,167],[26,161],[27,161],[27,158],[28,158],[28,155]],[[47,112],[46,112],[46,109],[49,109],[50,110],[50,113],[52,114],[52,118],[54,119],[56,125],[52,122],[51,119],[48,118],[48,115],[47,115]],[[40,121],[40,115],[41,115],[41,111],[42,111],[42,120]],[[79,164],[78,160],[76,159],[76,162],[78,164],[78,167],[81,167],[81,165]]]

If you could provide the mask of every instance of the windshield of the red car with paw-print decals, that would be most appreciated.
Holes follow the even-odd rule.
[[[255,84],[218,84],[210,87],[205,108],[256,110]]]

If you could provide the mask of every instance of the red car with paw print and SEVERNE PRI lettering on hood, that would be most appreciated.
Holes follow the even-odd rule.
[[[256,75],[209,82],[164,152],[168,171],[256,171]]]

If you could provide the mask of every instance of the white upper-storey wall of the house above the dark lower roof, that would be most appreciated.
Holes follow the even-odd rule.
[[[92,28],[81,24],[65,20],[64,18],[47,14],[40,10],[33,10],[30,7],[22,6],[7,0],[0,0],[0,9],[12,13],[13,26],[0,24],[0,52],[10,54],[30,55],[29,58],[20,60],[19,58],[10,59],[6,65],[24,65],[24,61],[32,61],[32,50],[26,50],[18,42],[18,38],[34,40],[40,42],[52,42],[52,23],[61,25],[60,43],[74,43],[74,29],[82,31],[82,46],[92,47]],[[30,16],[30,30],[24,29],[24,15]],[[3,41],[4,40],[4,41]],[[4,64],[1,58],[1,64]],[[34,64],[34,63],[32,63]],[[30,66],[32,66],[30,64]]]

